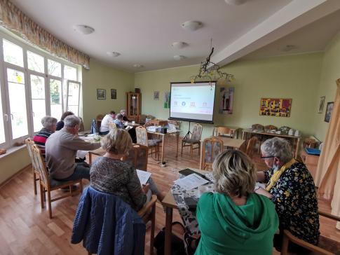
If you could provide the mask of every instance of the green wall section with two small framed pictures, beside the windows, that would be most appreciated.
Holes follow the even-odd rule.
[[[90,128],[91,120],[98,114],[120,111],[126,107],[125,92],[134,89],[134,74],[119,71],[97,60],[90,60],[90,70],[82,70],[83,122]],[[97,88],[107,91],[107,99],[97,99]],[[117,99],[111,99],[111,88],[117,90]]]

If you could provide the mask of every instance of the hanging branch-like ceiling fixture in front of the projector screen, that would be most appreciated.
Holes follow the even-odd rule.
[[[214,53],[214,47],[212,47],[212,39],[210,41],[211,52],[204,62],[200,62],[200,69],[196,76],[191,76],[191,83],[196,81],[219,81],[221,79],[226,82],[233,81],[233,74],[227,74],[220,70],[219,65],[210,61],[212,53]]]

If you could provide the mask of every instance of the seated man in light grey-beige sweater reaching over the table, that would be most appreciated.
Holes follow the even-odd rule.
[[[76,179],[90,180],[87,163],[74,163],[77,150],[91,151],[100,147],[100,142],[90,143],[78,137],[80,119],[70,115],[64,119],[64,127],[55,132],[46,142],[46,164],[50,177],[57,181]]]

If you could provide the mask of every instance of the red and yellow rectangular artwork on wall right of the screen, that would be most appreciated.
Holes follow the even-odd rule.
[[[261,98],[259,115],[290,117],[292,99],[287,98]]]

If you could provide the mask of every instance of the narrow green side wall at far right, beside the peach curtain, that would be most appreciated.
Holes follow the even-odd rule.
[[[329,126],[325,122],[325,111],[327,102],[334,102],[336,93],[336,80],[340,78],[340,34],[337,34],[325,49],[322,60],[320,83],[315,99],[316,108],[318,109],[320,97],[325,96],[325,106],[322,113],[314,115],[315,137],[323,141]],[[335,118],[335,116],[332,116]],[[339,118],[339,116],[337,116]]]

